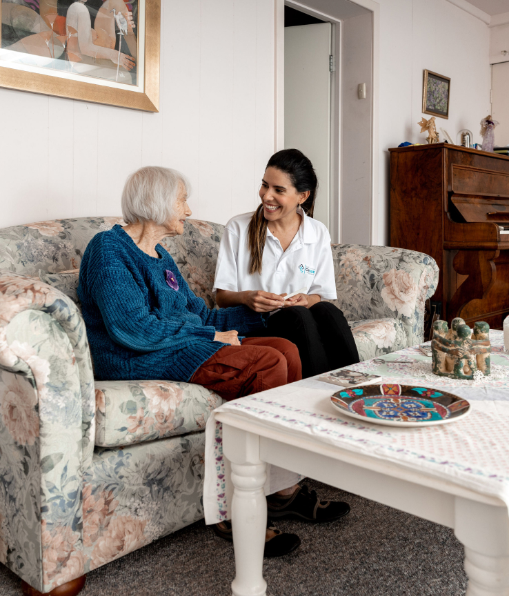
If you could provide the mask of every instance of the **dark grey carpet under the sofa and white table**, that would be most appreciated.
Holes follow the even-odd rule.
[[[333,524],[280,521],[300,548],[263,564],[268,596],[462,596],[463,547],[452,530],[390,507],[305,481],[320,497],[348,501]],[[233,548],[203,521],[88,574],[82,596],[223,596],[234,577]],[[0,595],[20,595],[0,566]]]

